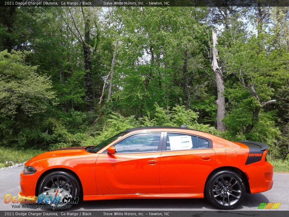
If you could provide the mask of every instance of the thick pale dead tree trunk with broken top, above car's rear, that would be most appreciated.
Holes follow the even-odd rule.
[[[225,123],[222,122],[223,118],[225,118],[225,96],[223,95],[225,91],[225,85],[223,80],[223,74],[218,65],[218,51],[216,49],[217,44],[217,34],[214,27],[212,27],[212,38],[213,38],[213,61],[212,61],[212,70],[216,77],[217,84],[217,129],[220,131],[225,131]]]

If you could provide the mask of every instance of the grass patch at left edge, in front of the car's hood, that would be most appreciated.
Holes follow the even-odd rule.
[[[0,168],[11,166],[12,163],[9,163],[9,161],[13,161],[14,164],[23,163],[43,152],[45,151],[35,149],[13,149],[7,147],[0,147]]]

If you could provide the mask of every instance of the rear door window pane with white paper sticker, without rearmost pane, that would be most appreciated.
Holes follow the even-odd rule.
[[[166,134],[166,150],[187,150],[197,148],[197,137],[185,134]]]

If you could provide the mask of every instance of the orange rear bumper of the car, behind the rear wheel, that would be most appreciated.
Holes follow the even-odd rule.
[[[245,172],[252,194],[264,192],[272,188],[274,168],[269,162],[261,161],[250,164]]]

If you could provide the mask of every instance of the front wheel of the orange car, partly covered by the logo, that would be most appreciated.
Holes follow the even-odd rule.
[[[53,181],[51,181],[53,180]],[[67,190],[72,197],[79,197],[80,196],[80,184],[78,181],[78,178],[75,177],[70,172],[67,171],[53,171],[51,173],[48,173],[41,181],[38,187],[38,195],[42,192],[48,190],[47,188],[57,188],[57,187],[63,187],[65,190]],[[79,200],[80,201],[80,197]],[[67,205],[73,206],[73,203],[67,203]],[[67,210],[68,208],[51,208],[51,210]]]

